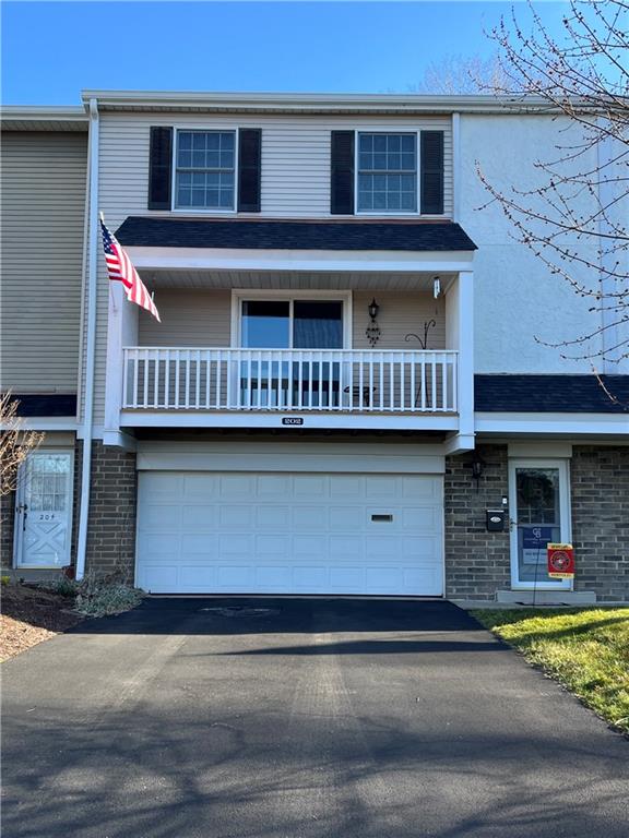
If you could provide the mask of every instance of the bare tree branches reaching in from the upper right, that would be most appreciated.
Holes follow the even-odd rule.
[[[531,1],[526,26],[522,16],[512,9],[488,33],[501,70],[491,89],[512,100],[535,97],[541,112],[569,122],[548,159],[535,163],[533,187],[499,188],[477,164],[490,195],[478,208],[498,205],[513,238],[593,300],[590,332],[562,343],[536,339],[583,349],[562,357],[618,363],[629,354],[629,4],[571,0],[558,37]]]

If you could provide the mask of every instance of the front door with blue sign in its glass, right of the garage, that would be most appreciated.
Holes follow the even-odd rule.
[[[568,464],[511,460],[509,493],[512,587],[570,588],[571,579],[550,578],[546,565],[546,544],[570,541]]]

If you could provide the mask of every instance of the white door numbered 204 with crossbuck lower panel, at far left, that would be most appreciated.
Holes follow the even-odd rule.
[[[22,464],[15,496],[15,566],[70,564],[71,451],[36,451]]]

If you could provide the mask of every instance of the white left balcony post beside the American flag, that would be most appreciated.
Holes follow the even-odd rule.
[[[126,374],[124,346],[138,345],[138,306],[130,303],[122,283],[109,282],[109,307],[107,316],[107,362],[105,368],[105,445],[124,446],[120,432],[122,409],[122,381]]]

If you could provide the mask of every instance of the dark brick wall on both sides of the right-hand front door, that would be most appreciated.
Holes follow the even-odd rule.
[[[448,457],[444,479],[446,596],[494,599],[511,588],[508,532],[487,532],[485,510],[508,494],[507,445],[480,445],[478,491],[471,455]],[[570,460],[575,590],[629,600],[629,447],[574,445]]]

